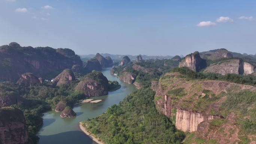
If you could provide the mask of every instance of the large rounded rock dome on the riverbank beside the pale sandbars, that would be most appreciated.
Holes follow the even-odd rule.
[[[74,90],[82,91],[85,96],[102,96],[108,94],[108,84],[109,81],[100,71],[92,71]]]

